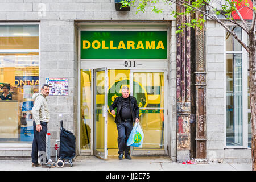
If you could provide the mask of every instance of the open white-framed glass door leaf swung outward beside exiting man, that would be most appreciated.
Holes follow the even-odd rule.
[[[93,155],[106,159],[107,148],[107,104],[108,69],[94,69],[94,145]]]

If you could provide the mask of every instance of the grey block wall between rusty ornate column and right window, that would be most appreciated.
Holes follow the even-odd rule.
[[[251,162],[250,149],[226,148],[225,139],[225,30],[206,24],[207,159],[213,162]]]

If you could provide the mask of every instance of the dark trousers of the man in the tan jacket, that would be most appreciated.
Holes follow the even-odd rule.
[[[31,158],[32,163],[38,163],[38,152],[41,164],[43,162],[47,163],[46,158],[46,134],[47,134],[47,123],[41,122],[42,130],[40,132],[36,131],[36,123],[33,121],[34,139],[32,143]]]

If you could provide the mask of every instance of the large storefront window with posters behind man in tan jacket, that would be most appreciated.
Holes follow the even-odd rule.
[[[0,25],[0,143],[32,143],[39,26]]]

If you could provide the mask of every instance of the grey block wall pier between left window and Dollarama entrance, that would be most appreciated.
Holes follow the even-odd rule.
[[[51,131],[51,154],[55,155],[54,144],[59,140],[60,121],[63,127],[74,132],[77,122],[77,59],[74,53],[73,20],[41,20],[40,81],[46,77],[68,77],[68,96],[48,96],[51,113],[48,130]],[[76,74],[75,74],[76,73]],[[61,115],[62,116],[61,116]]]

